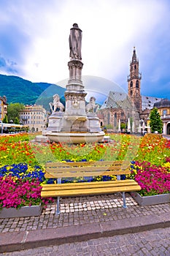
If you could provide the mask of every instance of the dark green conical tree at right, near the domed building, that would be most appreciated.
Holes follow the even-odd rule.
[[[162,133],[162,129],[163,129],[163,122],[161,120],[161,116],[158,113],[158,109],[157,108],[153,108],[150,111],[150,128],[151,128],[151,132],[158,132],[158,133]]]

